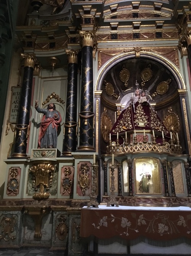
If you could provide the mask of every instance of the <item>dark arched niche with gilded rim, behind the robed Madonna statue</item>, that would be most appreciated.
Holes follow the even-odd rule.
[[[124,81],[120,79],[120,73],[124,69],[129,72],[129,79],[127,86]],[[145,69],[150,68],[152,76],[148,81],[142,79],[142,73],[146,76]],[[154,52],[140,51],[139,58],[135,52],[123,53],[114,56],[108,60],[99,70],[97,81],[95,83],[95,90],[100,91],[100,119],[102,124],[103,113],[107,115],[107,121],[112,127],[117,119],[117,104],[122,107],[131,97],[136,88],[136,80],[139,83],[139,88],[146,89],[151,96],[150,103],[157,111],[158,116],[162,121],[169,114],[169,107],[171,112],[175,113],[178,120],[178,129],[183,130],[183,115],[181,110],[180,90],[185,90],[185,83],[180,74],[180,70],[172,61]],[[168,83],[168,88],[162,91],[161,83]],[[141,83],[144,82],[144,87]],[[106,89],[106,84],[110,84],[110,91]],[[113,91],[113,93],[112,93]],[[155,94],[155,96],[153,96]],[[104,116],[105,118],[105,116]],[[101,126],[102,127],[102,126]],[[102,133],[102,130],[101,130]],[[183,136],[183,135],[182,135]],[[104,137],[104,136],[102,136]],[[180,138],[184,143],[184,138]],[[107,141],[101,140],[100,149],[105,152]],[[182,145],[183,150],[185,145]],[[103,149],[103,150],[102,150]]]

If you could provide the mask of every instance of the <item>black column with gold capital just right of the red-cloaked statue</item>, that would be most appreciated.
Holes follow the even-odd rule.
[[[71,155],[77,146],[78,51],[65,51],[68,56],[68,87],[63,155]]]

